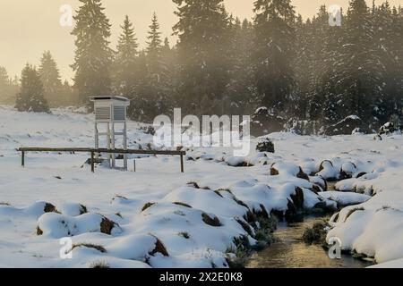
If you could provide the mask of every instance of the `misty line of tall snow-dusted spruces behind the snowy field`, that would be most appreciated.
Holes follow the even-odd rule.
[[[264,106],[318,126],[353,114],[373,126],[402,116],[403,9],[387,1],[368,7],[351,0],[342,25],[332,27],[325,6],[304,21],[291,0],[256,0],[253,21],[228,14],[223,0],[173,0],[178,42],[161,37],[154,14],[144,49],[127,16],[113,49],[101,0],[80,2],[72,67],[81,104],[94,95],[126,96],[130,116],[143,122],[173,107],[201,115],[253,114]],[[54,105],[51,95],[63,85],[49,53],[39,73]]]

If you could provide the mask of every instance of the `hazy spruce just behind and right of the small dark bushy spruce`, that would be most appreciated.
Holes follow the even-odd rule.
[[[43,53],[39,66],[40,80],[42,80],[45,98],[49,105],[56,107],[61,105],[65,98],[62,97],[62,80],[57,69],[57,64],[50,51]]]

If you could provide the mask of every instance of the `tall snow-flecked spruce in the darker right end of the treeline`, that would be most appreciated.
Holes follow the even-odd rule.
[[[375,99],[382,97],[384,66],[373,46],[373,18],[364,0],[350,2],[343,27],[334,98],[338,119],[354,114],[368,122]]]

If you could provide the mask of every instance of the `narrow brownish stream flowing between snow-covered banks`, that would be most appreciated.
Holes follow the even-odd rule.
[[[349,255],[330,259],[321,246],[305,244],[304,230],[322,220],[322,217],[308,216],[301,222],[280,222],[274,231],[275,242],[253,254],[246,268],[364,268],[373,265]]]

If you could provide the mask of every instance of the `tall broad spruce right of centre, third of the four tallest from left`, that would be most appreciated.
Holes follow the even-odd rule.
[[[284,114],[295,89],[296,13],[291,0],[257,0],[253,11],[255,77],[262,105]]]

